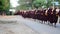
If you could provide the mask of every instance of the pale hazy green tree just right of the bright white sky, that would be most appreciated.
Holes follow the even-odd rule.
[[[16,10],[29,10],[32,7],[32,0],[19,0],[19,6],[16,7]]]

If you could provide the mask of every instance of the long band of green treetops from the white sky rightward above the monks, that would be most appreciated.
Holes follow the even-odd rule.
[[[28,4],[26,3],[27,1],[30,1]],[[56,0],[54,0],[56,1]],[[60,1],[60,0],[59,0]],[[44,6],[45,8],[48,8],[50,6],[53,6],[53,0],[20,0],[18,3],[20,6],[18,6],[16,9],[28,9],[28,8],[40,8]]]

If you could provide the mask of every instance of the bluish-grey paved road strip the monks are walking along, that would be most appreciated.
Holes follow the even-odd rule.
[[[22,21],[23,20],[23,21]],[[20,19],[20,22],[24,23],[28,27],[32,28],[33,30],[39,32],[40,34],[60,34],[60,24],[57,23],[57,27],[52,27],[46,24],[38,23],[34,20],[30,19]]]

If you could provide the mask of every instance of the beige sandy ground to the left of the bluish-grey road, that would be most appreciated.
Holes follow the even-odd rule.
[[[0,20],[5,21],[4,23],[0,22],[0,34],[40,34],[35,30],[29,28],[24,23],[18,21],[18,16],[14,18],[1,18]],[[17,20],[16,23],[7,23],[7,21]]]

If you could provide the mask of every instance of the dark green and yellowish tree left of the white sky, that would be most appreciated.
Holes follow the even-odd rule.
[[[9,11],[10,8],[10,0],[0,0],[0,12],[5,12]]]

